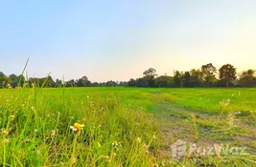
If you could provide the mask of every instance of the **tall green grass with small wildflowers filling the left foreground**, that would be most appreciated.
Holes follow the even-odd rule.
[[[16,89],[1,98],[2,166],[151,166],[157,125],[139,107],[107,96],[51,96]],[[81,133],[70,126],[83,124]]]

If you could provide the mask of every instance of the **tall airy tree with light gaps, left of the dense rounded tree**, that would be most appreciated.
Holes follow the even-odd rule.
[[[216,67],[212,63],[203,65],[201,67],[201,72],[203,74],[204,84],[210,87],[213,83],[217,82],[215,74],[217,73]]]

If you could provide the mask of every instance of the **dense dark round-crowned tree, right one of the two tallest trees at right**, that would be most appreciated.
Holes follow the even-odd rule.
[[[219,70],[221,81],[225,82],[226,87],[231,83],[231,81],[237,78],[237,71],[231,64],[226,64]]]

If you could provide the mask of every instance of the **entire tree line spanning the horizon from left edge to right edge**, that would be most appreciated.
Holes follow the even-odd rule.
[[[25,78],[23,74],[5,75],[0,72],[0,88],[16,87],[148,87],[148,88],[195,88],[195,87],[256,87],[256,76],[254,70],[237,73],[231,64],[223,65],[218,71],[212,64],[202,65],[200,69],[180,72],[175,71],[174,76],[158,75],[156,70],[150,68],[143,73],[142,77],[129,79],[129,81],[107,81],[91,82],[87,76],[79,79],[62,81],[54,80],[49,74],[47,77]]]

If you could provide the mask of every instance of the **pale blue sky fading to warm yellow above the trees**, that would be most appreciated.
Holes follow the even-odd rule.
[[[0,1],[0,72],[125,81],[213,63],[256,70],[255,0]]]

